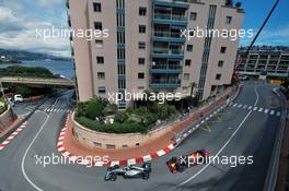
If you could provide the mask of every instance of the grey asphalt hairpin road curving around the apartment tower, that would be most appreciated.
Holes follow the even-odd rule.
[[[0,153],[0,190],[38,191],[262,191],[279,128],[281,100],[267,84],[245,84],[233,103],[188,136],[172,153],[152,162],[149,180],[123,179],[105,182],[105,168],[68,164],[57,153],[57,136],[66,119],[58,108],[70,108],[63,93],[37,110],[26,129]],[[171,157],[207,148],[226,163],[208,163],[171,174],[165,165]],[[235,165],[235,157],[244,156]],[[58,158],[55,162],[51,157]],[[250,159],[248,159],[250,158]],[[62,160],[62,162],[61,162]],[[44,165],[44,162],[47,165]],[[226,160],[224,160],[226,162]],[[53,164],[55,163],[55,164]]]

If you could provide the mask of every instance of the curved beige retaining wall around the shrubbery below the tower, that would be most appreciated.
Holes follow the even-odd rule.
[[[150,141],[160,139],[166,132],[172,132],[172,131],[175,132],[176,126],[181,127],[181,130],[183,130],[189,123],[199,119],[200,116],[207,115],[216,106],[221,105],[223,102],[226,102],[228,95],[232,97],[234,93],[235,93],[235,88],[227,89],[227,92],[220,95],[213,103],[211,103],[208,106],[204,106],[197,112],[194,112],[185,121],[175,121],[169,123],[167,126],[163,126],[162,128],[151,131],[148,134],[140,134],[140,133],[113,134],[113,133],[96,132],[79,124],[74,120],[74,114],[71,116],[73,123],[72,133],[76,140],[78,140],[82,145],[85,145],[91,148],[126,148],[126,147],[142,146],[146,143],[149,143]]]

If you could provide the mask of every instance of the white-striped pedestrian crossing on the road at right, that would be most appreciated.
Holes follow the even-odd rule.
[[[269,116],[277,116],[277,117],[281,116],[281,112],[277,109],[250,106],[250,105],[239,104],[239,103],[230,103],[229,106],[234,107],[234,108],[239,108],[239,109],[246,109],[246,110],[253,110],[256,112],[263,112],[263,114],[269,115]]]

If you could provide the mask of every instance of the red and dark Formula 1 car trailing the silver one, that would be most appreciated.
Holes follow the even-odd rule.
[[[172,157],[169,162],[166,162],[166,166],[169,167],[172,174],[183,172],[186,168],[198,164],[206,164],[208,162],[209,152],[207,150],[199,150],[194,153],[190,153],[185,156]]]

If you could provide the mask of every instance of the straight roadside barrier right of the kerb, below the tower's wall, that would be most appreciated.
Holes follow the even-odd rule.
[[[233,102],[239,93],[240,89],[242,88],[243,85],[239,85],[236,92],[233,91],[234,95],[230,95],[233,93],[229,93],[227,95],[232,96],[230,98],[230,102]],[[212,118],[213,116],[216,116],[218,112],[220,112],[222,109],[224,109],[228,105],[229,102],[226,102],[224,104],[222,104],[222,100],[227,95],[222,96],[221,98],[219,98],[219,100],[217,100],[217,104],[212,104],[211,106],[209,106],[208,108],[205,108],[201,111],[198,111],[197,114],[195,114],[195,116],[197,116],[197,120],[193,123],[187,124],[186,128],[184,128],[183,131],[178,132],[174,138],[173,141],[176,144],[180,144],[184,139],[186,139],[189,134],[192,134],[194,131],[196,131],[203,123],[205,123],[206,121],[208,121],[210,118]],[[220,103],[219,103],[220,102]],[[210,108],[211,107],[211,108]]]

